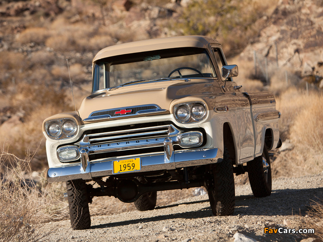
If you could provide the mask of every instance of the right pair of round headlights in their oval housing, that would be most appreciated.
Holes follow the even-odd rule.
[[[196,123],[206,116],[206,106],[203,102],[185,102],[174,106],[174,116],[179,123]]]

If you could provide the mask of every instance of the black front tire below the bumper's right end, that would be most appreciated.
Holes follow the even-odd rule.
[[[211,164],[211,171],[213,180],[208,189],[208,198],[212,212],[216,216],[232,215],[235,207],[235,187],[232,163],[226,148],[223,161]]]

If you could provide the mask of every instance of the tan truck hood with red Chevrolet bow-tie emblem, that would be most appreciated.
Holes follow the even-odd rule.
[[[165,114],[171,112],[170,104],[175,99],[192,96],[192,100],[194,100],[194,97],[219,92],[221,89],[217,82],[210,79],[136,83],[116,89],[102,90],[102,92],[84,98],[79,108],[79,114],[84,122],[99,122],[111,117],[126,118],[131,114],[136,115],[136,110],[139,110],[138,113],[142,113],[139,115],[149,115],[149,111],[144,112],[145,109],[150,109],[152,115],[152,109],[155,110],[154,112]],[[117,114],[115,114],[116,112]],[[112,114],[113,116],[109,117]]]

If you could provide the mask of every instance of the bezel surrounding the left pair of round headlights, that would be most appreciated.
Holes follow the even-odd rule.
[[[66,129],[63,128],[64,124],[66,124],[67,122],[71,122],[73,125],[74,125],[74,131],[72,133],[68,133],[66,132]],[[50,132],[49,132],[49,127],[53,124],[58,124],[61,128],[61,131],[58,135],[52,135]],[[44,125],[44,129],[45,129],[45,132],[47,134],[47,136],[50,138],[50,139],[53,139],[53,140],[63,140],[63,139],[70,139],[72,137],[74,137],[77,132],[78,132],[78,125],[77,125],[77,122],[75,119],[73,118],[57,118],[57,119],[51,119],[51,120],[48,120],[45,122],[45,125]]]

